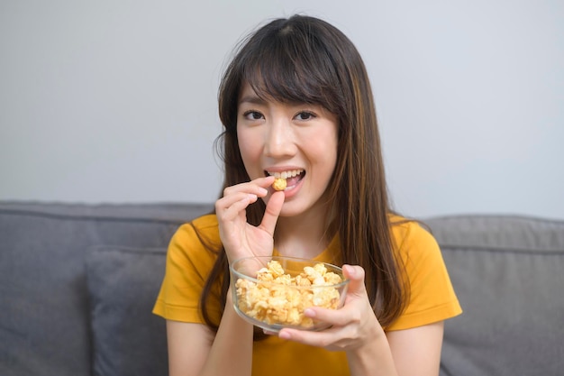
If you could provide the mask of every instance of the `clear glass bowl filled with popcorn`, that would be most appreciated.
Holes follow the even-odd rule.
[[[248,257],[230,265],[235,311],[270,332],[330,325],[304,315],[307,307],[342,307],[349,280],[340,267],[283,256]]]

